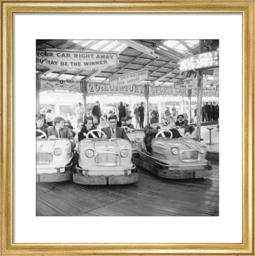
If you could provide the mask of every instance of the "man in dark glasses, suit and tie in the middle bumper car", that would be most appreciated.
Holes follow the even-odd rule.
[[[106,135],[103,136],[104,139],[118,138],[118,139],[128,139],[125,130],[121,127],[117,127],[117,115],[112,115],[108,118],[108,127],[102,128]]]

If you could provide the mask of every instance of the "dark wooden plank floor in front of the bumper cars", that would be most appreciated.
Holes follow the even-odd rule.
[[[165,180],[139,169],[130,185],[37,184],[37,216],[218,216],[219,169],[211,179]]]

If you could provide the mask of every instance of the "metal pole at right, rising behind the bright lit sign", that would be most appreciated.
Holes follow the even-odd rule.
[[[199,53],[203,52],[204,40],[199,40]],[[201,138],[201,105],[202,105],[202,83],[203,71],[197,71],[198,76],[198,89],[197,89],[197,140],[200,142]]]

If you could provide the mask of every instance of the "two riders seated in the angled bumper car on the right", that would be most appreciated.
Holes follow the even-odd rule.
[[[167,127],[165,127],[164,129],[160,129],[160,126],[158,125],[158,118],[157,117],[152,117],[150,119],[149,125],[147,125],[145,127],[145,144],[146,144],[146,149],[147,149],[148,152],[151,152],[151,141],[152,141],[152,139],[155,138],[156,134],[160,130],[164,130],[165,131],[165,136],[168,137],[168,138],[171,136],[170,133],[167,133],[168,130],[172,131],[173,138],[182,137],[180,135],[179,131],[176,129],[174,118],[168,116],[166,118],[166,121],[167,121]]]

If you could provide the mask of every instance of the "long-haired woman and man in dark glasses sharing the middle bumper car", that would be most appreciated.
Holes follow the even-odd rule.
[[[103,139],[111,139],[111,138],[121,138],[121,139],[128,139],[129,137],[126,135],[125,130],[121,127],[117,127],[117,116],[111,115],[108,117],[108,127],[101,128],[101,131],[105,133],[104,136],[102,136]],[[81,141],[84,138],[87,138],[87,134],[90,130],[94,130],[94,124],[93,124],[93,118],[87,117],[84,120],[83,127],[78,134],[78,140]],[[96,137],[99,138],[98,133],[94,133]],[[93,138],[93,136],[90,134],[89,138]]]

